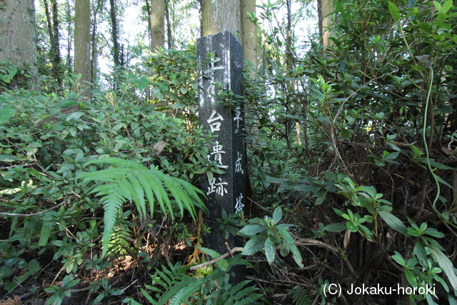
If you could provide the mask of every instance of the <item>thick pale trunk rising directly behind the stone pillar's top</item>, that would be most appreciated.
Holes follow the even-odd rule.
[[[201,0],[201,36],[231,31],[241,39],[240,0]]]

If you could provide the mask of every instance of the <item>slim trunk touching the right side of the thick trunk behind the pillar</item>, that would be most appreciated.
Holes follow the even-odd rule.
[[[248,18],[248,13],[256,12],[256,0],[240,0],[241,4],[241,44],[243,59],[257,69],[257,25]]]

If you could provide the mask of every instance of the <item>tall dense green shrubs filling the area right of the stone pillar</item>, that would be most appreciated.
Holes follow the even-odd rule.
[[[436,284],[435,296],[384,301],[453,302],[456,273],[445,256],[452,257],[457,228],[457,61],[450,59],[456,7],[452,1],[333,5],[331,43],[311,43],[293,64],[280,55],[285,39],[275,29],[265,33],[273,50],[245,86],[254,199],[290,212],[302,238],[318,239],[306,246],[323,243],[311,256],[339,256],[341,263],[331,266],[343,271],[323,283]],[[266,6],[259,15],[265,22]],[[386,269],[389,276],[374,276]],[[317,281],[316,274],[317,268],[308,277]],[[326,301],[317,286],[311,294]]]

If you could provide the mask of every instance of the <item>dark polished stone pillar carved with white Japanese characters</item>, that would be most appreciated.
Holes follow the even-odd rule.
[[[210,54],[210,56],[209,56]],[[224,90],[233,94],[243,94],[243,48],[230,31],[204,36],[197,40],[199,66],[199,124],[211,131],[214,143],[211,145],[209,161],[216,161],[225,174],[215,174],[210,181],[201,177],[201,189],[208,196],[206,206],[209,213],[205,217],[206,226],[211,226],[211,234],[204,239],[204,246],[226,252],[225,242],[233,248],[233,236],[225,239],[216,218],[221,211],[235,214],[243,210],[245,194],[245,150],[243,138],[243,105],[218,104]],[[216,85],[219,84],[219,85]],[[219,87],[219,89],[218,89]]]

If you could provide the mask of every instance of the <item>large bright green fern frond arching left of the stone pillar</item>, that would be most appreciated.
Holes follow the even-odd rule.
[[[77,179],[86,181],[99,181],[90,191],[101,196],[104,207],[104,233],[101,257],[108,251],[111,235],[114,230],[119,210],[127,201],[134,202],[141,217],[146,216],[149,204],[149,213],[154,216],[156,201],[164,214],[169,213],[174,219],[173,205],[170,196],[174,197],[179,208],[181,218],[184,209],[187,209],[192,218],[196,219],[196,207],[205,209],[199,194],[204,193],[189,182],[168,176],[157,169],[148,169],[146,166],[134,161],[119,158],[102,158],[87,162],[91,164],[108,164],[112,167],[80,174]]]

